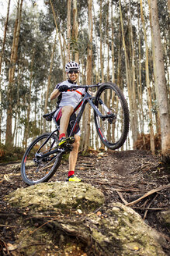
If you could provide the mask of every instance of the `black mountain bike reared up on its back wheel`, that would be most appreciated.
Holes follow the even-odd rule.
[[[95,97],[89,89],[98,87]],[[106,148],[115,150],[123,146],[129,131],[129,110],[127,101],[120,88],[113,83],[72,86],[69,90],[85,88],[85,94],[74,109],[79,109],[68,137],[73,137],[76,132],[85,105],[91,105],[94,111],[95,128],[102,144]],[[43,115],[47,121],[54,120],[56,129],[51,133],[43,133],[29,145],[21,162],[21,175],[23,181],[29,185],[50,180],[61,164],[64,154],[72,150],[71,144],[64,148],[57,146],[60,126],[55,118],[56,109]]]

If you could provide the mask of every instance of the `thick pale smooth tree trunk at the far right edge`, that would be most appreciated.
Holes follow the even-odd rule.
[[[165,82],[165,68],[163,62],[163,51],[161,46],[161,34],[158,22],[157,0],[148,0],[151,13],[151,30],[154,45],[154,73],[156,75],[155,85],[159,105],[161,122],[161,154],[165,162],[170,162],[170,116],[168,112],[167,87]]]

